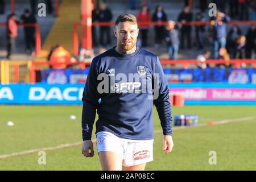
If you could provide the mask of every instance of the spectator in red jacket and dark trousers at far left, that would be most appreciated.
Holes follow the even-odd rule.
[[[7,38],[7,59],[15,51],[15,40],[18,35],[18,22],[14,13],[7,16],[6,22],[6,38]]]

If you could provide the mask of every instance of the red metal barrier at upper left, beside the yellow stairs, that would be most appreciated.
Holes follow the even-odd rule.
[[[39,23],[18,23],[18,26],[35,27],[35,30],[36,30],[35,52],[36,52],[36,55],[38,55],[41,50],[41,33],[40,33]],[[6,23],[0,23],[0,27],[6,27]]]

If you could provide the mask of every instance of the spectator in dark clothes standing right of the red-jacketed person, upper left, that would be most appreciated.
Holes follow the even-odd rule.
[[[36,23],[36,18],[30,10],[25,9],[20,17],[20,23]],[[31,53],[32,48],[35,47],[35,27],[24,26],[24,37],[26,42],[26,52]]]

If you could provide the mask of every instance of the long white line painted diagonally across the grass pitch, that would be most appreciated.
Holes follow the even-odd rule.
[[[256,119],[256,116],[245,117],[245,118],[235,118],[235,119],[224,119],[221,121],[213,122],[213,125],[221,125],[221,124],[226,124],[226,123],[249,121],[252,119]],[[208,125],[208,123],[201,123],[197,126],[191,126],[191,127],[182,127],[182,126],[181,127],[173,127],[172,130],[191,129],[191,128],[200,127],[200,126],[209,126],[209,125]],[[162,132],[162,130],[156,130],[154,133],[161,133],[161,132]],[[92,140],[92,142],[95,143],[96,139]],[[34,154],[39,151],[53,151],[53,150],[76,147],[76,146],[81,146],[81,145],[82,145],[82,142],[76,142],[76,143],[60,144],[59,146],[55,146],[55,147],[46,147],[46,148],[38,148],[38,149],[27,150],[27,151],[22,151],[22,152],[15,152],[13,154],[0,155],[0,160],[15,157],[15,156],[20,156],[20,155]]]

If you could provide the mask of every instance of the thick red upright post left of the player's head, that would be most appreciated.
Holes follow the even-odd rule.
[[[92,1],[81,0],[82,48],[92,48]]]

